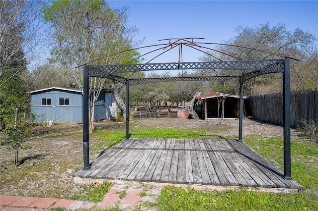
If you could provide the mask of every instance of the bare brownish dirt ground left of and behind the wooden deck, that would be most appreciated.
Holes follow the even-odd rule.
[[[218,119],[193,120],[181,118],[144,118],[135,117],[130,127],[138,128],[213,128],[220,127]],[[125,124],[113,121],[95,123],[99,129],[122,128]],[[225,119],[222,126],[226,130],[219,136],[238,136],[239,120]],[[20,165],[13,165],[13,152],[10,146],[0,146],[0,195],[29,196],[47,198],[71,198],[83,189],[82,185],[72,182],[72,175],[82,168],[82,124],[57,124],[52,127],[38,126],[34,136],[23,144],[25,149],[19,153]],[[66,135],[67,134],[67,135]],[[283,127],[264,124],[251,119],[243,119],[243,136],[259,134],[282,136]],[[291,130],[292,139],[299,132]],[[94,142],[94,140],[90,140]],[[90,160],[99,155],[90,151]]]

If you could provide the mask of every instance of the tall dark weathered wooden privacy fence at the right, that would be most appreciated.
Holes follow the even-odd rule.
[[[302,126],[301,119],[318,123],[318,90],[299,90],[290,93],[291,127]],[[250,96],[245,110],[253,118],[283,124],[283,93]]]

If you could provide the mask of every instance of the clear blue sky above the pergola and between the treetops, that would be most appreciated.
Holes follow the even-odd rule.
[[[239,26],[285,24],[318,36],[318,1],[208,1],[208,0],[110,0],[111,7],[130,8],[129,25],[145,38],[142,46],[162,44],[160,39],[201,37],[203,42],[222,43],[235,37]],[[199,40],[197,40],[199,41]],[[141,50],[141,53],[149,50]],[[162,52],[162,51],[161,51]],[[158,53],[157,53],[158,54]],[[203,53],[183,49],[183,61],[197,61]],[[145,56],[146,61],[155,54]],[[165,53],[153,62],[177,62],[178,50]]]

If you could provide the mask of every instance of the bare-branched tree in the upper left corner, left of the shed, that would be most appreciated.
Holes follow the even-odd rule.
[[[0,76],[12,60],[36,58],[41,5],[39,0],[0,0]],[[0,87],[20,70],[5,81],[0,79]]]

